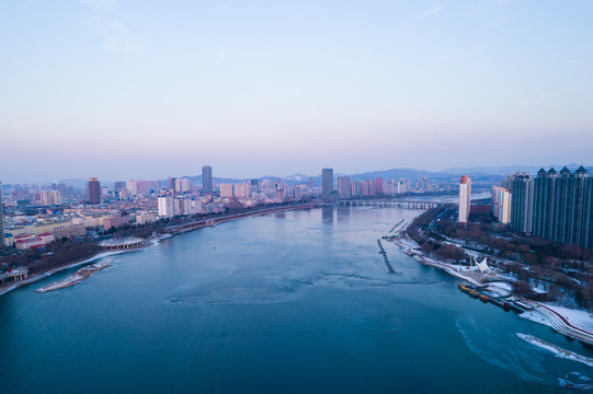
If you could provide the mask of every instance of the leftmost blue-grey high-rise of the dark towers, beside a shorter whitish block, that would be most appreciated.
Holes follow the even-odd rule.
[[[534,217],[534,179],[529,173],[516,173],[508,177],[511,186],[511,229],[531,233]]]

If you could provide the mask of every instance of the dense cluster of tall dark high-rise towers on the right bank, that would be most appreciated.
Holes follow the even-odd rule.
[[[560,243],[593,247],[593,177],[580,166],[508,176],[492,189],[492,212],[511,229]]]

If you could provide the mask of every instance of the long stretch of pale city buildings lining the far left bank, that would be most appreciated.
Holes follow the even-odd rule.
[[[381,177],[355,181],[322,169],[321,186],[306,179],[250,179],[216,183],[213,169],[202,167],[202,185],[190,178],[117,181],[104,185],[91,177],[85,187],[65,183],[8,185],[4,213],[0,215],[0,248],[39,247],[62,237],[83,236],[123,225],[145,224],[162,218],[224,212],[227,209],[321,198],[332,201],[358,196],[389,196],[442,189],[423,176],[384,182]],[[1,190],[1,188],[0,188]],[[1,204],[1,194],[0,194]],[[0,251],[1,252],[1,251]]]

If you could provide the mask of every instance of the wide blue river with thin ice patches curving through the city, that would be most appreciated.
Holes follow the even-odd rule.
[[[376,240],[418,211],[329,207],[238,220],[0,297],[2,393],[557,393],[593,358]]]

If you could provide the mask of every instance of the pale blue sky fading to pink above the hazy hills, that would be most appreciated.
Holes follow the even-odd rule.
[[[0,2],[0,182],[593,165],[593,1]]]

